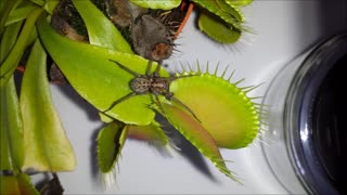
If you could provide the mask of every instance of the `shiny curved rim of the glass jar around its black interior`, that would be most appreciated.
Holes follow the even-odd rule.
[[[304,60],[290,84],[284,104],[284,136],[292,166],[311,193],[338,194],[326,178],[313,146],[309,118],[312,99],[334,64],[347,55],[347,32],[318,44]]]

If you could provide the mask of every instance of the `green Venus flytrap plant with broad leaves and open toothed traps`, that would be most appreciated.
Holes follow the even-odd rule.
[[[153,4],[153,1],[141,2],[153,9],[168,9],[180,3],[172,1],[174,4],[167,6]],[[247,96],[253,87],[239,88],[239,82],[231,83],[231,76],[224,80],[226,72],[217,76],[217,70],[210,74],[207,69],[196,73],[188,69],[178,74],[178,79],[167,89],[182,104],[147,93],[124,100],[108,110],[115,101],[132,92],[129,83],[134,78],[111,60],[139,75],[146,74],[149,61],[132,53],[121,32],[89,0],[73,0],[86,25],[89,42],[57,34],[50,24],[57,3],[55,0],[0,2],[0,170],[9,174],[0,176],[1,193],[39,193],[25,173],[27,169],[57,172],[75,168],[73,148],[51,101],[48,57],[59,66],[68,83],[100,112],[105,122],[98,136],[98,162],[102,173],[112,172],[128,134],[167,146],[168,138],[155,120],[155,115],[159,114],[221,172],[240,182],[227,168],[218,147],[245,147],[255,139],[259,112]],[[196,3],[202,4],[202,1]],[[207,10],[211,8],[206,6]],[[221,18],[227,22],[229,17]],[[20,94],[13,76],[18,64],[26,64]],[[153,62],[151,70],[157,66]],[[160,69],[162,77],[169,79],[169,74]]]

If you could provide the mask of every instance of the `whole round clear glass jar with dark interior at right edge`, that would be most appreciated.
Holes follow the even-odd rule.
[[[287,64],[262,102],[262,152],[291,194],[347,194],[347,32]]]

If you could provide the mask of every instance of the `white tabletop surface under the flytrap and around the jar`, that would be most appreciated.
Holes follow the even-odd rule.
[[[244,9],[247,26],[254,34],[245,35],[235,46],[220,46],[209,40],[195,28],[193,15],[177,41],[180,52],[165,63],[175,70],[180,62],[191,65],[195,65],[196,60],[201,65],[219,62],[220,67],[235,69],[235,80],[246,78],[245,86],[265,82],[252,92],[255,96],[264,95],[281,67],[322,38],[346,29],[346,1],[344,6],[338,2],[256,0]],[[94,140],[102,127],[97,112],[70,87],[52,84],[51,89],[78,164],[75,171],[59,173],[65,194],[286,193],[267,166],[259,139],[247,148],[221,150],[226,159],[233,160],[228,167],[237,173],[243,185],[224,177],[190,147],[187,150],[191,157],[179,153],[167,157],[145,143],[129,140],[121,153],[116,185],[105,191],[95,174]],[[192,162],[194,160],[197,162]]]

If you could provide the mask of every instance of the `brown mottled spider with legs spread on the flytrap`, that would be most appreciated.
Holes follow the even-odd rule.
[[[180,77],[160,77],[159,76],[159,70],[162,67],[162,63],[159,63],[156,68],[154,74],[151,73],[152,68],[152,61],[150,61],[149,66],[146,68],[146,74],[145,75],[140,75],[128,67],[117,63],[116,61],[110,60],[111,62],[114,62],[117,64],[121,69],[128,72],[129,74],[133,75],[134,78],[130,81],[129,86],[131,89],[131,92],[128,93],[127,95],[118,99],[115,101],[107,109],[103,110],[103,113],[108,112],[112,109],[114,106],[119,104],[120,102],[134,96],[134,95],[143,95],[143,94],[154,94],[156,102],[159,106],[159,109],[164,113],[164,109],[162,107],[162,104],[159,102],[158,95],[165,96],[166,100],[174,101],[181,106],[183,106],[189,113],[193,115],[193,117],[200,121],[200,119],[196,117],[196,115],[185,104],[183,104],[180,100],[174,96],[174,93],[169,91],[169,86],[170,82],[178,79],[178,78],[183,78],[183,77],[190,77],[192,75],[184,75]]]

